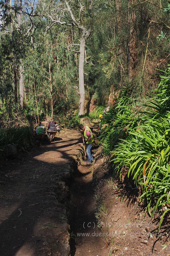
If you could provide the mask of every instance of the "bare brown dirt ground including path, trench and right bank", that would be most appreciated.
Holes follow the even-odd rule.
[[[0,256],[170,256],[169,219],[158,234],[159,220],[144,219],[100,149],[91,166],[82,152],[81,132],[63,129],[54,142],[5,161]]]

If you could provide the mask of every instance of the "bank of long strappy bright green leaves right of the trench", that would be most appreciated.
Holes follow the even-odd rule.
[[[170,67],[161,70],[152,101],[136,108],[130,89],[102,119],[100,143],[113,172],[133,180],[140,189],[145,213],[170,211]],[[143,111],[139,111],[143,110]]]

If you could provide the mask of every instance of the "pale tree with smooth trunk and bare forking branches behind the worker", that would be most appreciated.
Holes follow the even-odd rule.
[[[34,15],[40,15],[49,20],[49,24],[46,31],[50,29],[54,24],[58,23],[65,26],[75,26],[80,31],[80,43],[79,50],[75,50],[75,44],[72,42],[69,44],[69,48],[79,53],[79,115],[84,114],[85,103],[85,88],[84,88],[84,60],[85,60],[85,43],[90,36],[92,29],[92,0],[89,1],[57,1],[57,2],[42,2],[37,4],[36,14],[28,14],[33,17]],[[37,12],[39,11],[39,12]]]

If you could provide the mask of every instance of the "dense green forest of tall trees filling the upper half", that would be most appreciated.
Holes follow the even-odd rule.
[[[92,98],[113,106],[127,86],[134,104],[150,99],[157,69],[169,63],[169,6],[166,0],[1,1],[2,123],[57,116],[66,124],[77,110],[85,114]]]

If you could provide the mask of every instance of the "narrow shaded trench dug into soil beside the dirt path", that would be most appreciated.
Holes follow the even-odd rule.
[[[92,188],[92,168],[80,164],[70,181],[68,219],[70,224],[70,256],[108,255],[103,252],[104,241],[98,236],[95,199]],[[101,252],[102,251],[102,252]]]

